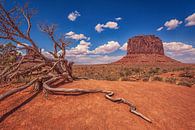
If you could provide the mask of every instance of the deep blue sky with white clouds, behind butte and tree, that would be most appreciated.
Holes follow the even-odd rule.
[[[73,37],[79,34],[86,37],[82,39],[83,35],[80,35],[81,39],[73,40],[68,51],[73,61],[80,57],[78,63],[117,60],[126,53],[120,49],[124,43],[140,34],[159,36],[165,42],[166,54],[170,57],[182,62],[195,62],[194,0],[34,0],[30,6],[38,9],[32,21],[32,37],[41,48],[51,50],[52,43],[39,31],[38,23],[57,24],[58,34],[71,32]],[[68,18],[71,13],[72,20]],[[186,26],[187,23],[190,26]],[[98,24],[103,31],[95,30]],[[99,52],[98,47],[105,51]]]

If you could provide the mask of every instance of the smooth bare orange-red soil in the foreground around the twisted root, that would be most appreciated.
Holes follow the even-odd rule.
[[[116,97],[133,102],[152,119],[150,124],[129,112],[123,104],[105,99],[103,94],[54,96],[41,93],[0,123],[0,129],[65,130],[193,130],[195,129],[195,86],[188,88],[162,82],[81,80],[66,88],[102,88]],[[5,89],[0,89],[0,93]],[[32,94],[21,92],[0,102],[0,115]]]

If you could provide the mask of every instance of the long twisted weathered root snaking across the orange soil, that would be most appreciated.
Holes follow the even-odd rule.
[[[130,112],[141,117],[142,119],[144,119],[145,121],[152,123],[152,121],[146,117],[145,115],[143,115],[142,113],[138,112],[136,109],[136,106],[129,102],[128,100],[124,99],[124,98],[113,98],[112,96],[114,96],[114,92],[112,91],[106,91],[106,90],[102,90],[102,89],[80,89],[80,88],[53,88],[50,87],[50,85],[52,83],[54,83],[57,80],[63,79],[64,75],[60,75],[60,76],[56,76],[51,78],[51,76],[44,76],[44,77],[40,77],[40,78],[35,78],[34,80],[32,80],[31,82],[29,82],[28,84],[12,89],[4,94],[0,95],[0,101],[2,101],[3,99],[17,93],[20,92],[24,89],[27,89],[28,87],[30,87],[31,85],[35,85],[35,90],[39,91],[40,88],[43,88],[44,93],[47,95],[48,92],[52,93],[52,94],[67,94],[67,93],[71,93],[71,94],[77,94],[77,95],[81,95],[81,94],[86,94],[86,93],[104,93],[105,94],[105,98],[112,101],[112,102],[116,102],[116,103],[123,103],[126,104],[130,107]],[[42,83],[43,80],[46,80],[45,82]]]

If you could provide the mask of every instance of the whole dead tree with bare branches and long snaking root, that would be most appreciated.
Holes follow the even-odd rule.
[[[18,76],[31,76],[32,79],[24,86],[11,89],[0,94],[0,101],[5,100],[9,96],[16,94],[29,87],[34,87],[34,91],[44,91],[45,94],[86,94],[86,93],[103,93],[105,98],[112,102],[123,103],[130,107],[130,112],[140,116],[148,122],[151,120],[141,113],[137,112],[135,105],[123,98],[113,98],[112,91],[101,89],[78,89],[78,88],[56,88],[56,82],[72,82],[73,63],[66,60],[66,46],[69,44],[64,37],[56,38],[55,25],[40,25],[40,30],[46,33],[53,42],[53,51],[49,52],[52,58],[46,57],[38,44],[31,38],[31,18],[35,10],[30,9],[28,4],[23,7],[14,6],[7,10],[3,3],[0,3],[0,39],[9,40],[20,45],[20,49],[27,52],[22,58],[5,68],[0,73],[0,82],[11,82]],[[22,30],[21,26],[27,26],[26,30]],[[26,41],[29,45],[22,43]],[[32,58],[34,57],[34,58]],[[33,64],[33,65],[32,65]],[[24,69],[25,68],[25,69]]]

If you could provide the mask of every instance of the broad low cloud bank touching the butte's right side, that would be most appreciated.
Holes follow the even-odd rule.
[[[183,42],[164,42],[165,54],[184,63],[195,63],[195,48]]]

